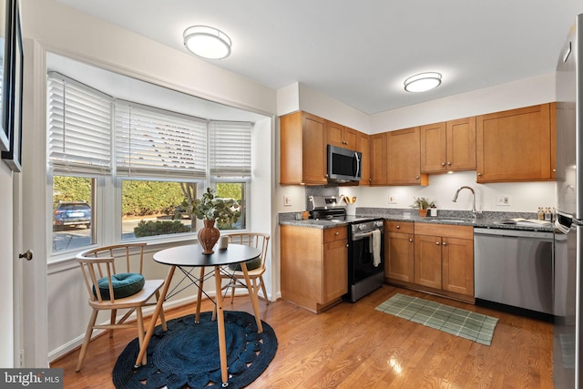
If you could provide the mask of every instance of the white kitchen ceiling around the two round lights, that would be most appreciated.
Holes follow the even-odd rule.
[[[231,55],[210,63],[279,89],[300,82],[374,114],[555,71],[580,0],[58,0],[184,53],[215,26]],[[404,91],[404,78],[443,75]]]

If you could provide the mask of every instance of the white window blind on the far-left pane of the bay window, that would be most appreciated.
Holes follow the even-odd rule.
[[[109,172],[112,98],[56,72],[48,74],[47,93],[51,168]]]

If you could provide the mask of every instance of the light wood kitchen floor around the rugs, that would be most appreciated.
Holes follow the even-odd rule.
[[[499,318],[491,346],[424,327],[374,310],[400,292]],[[210,302],[203,308],[210,310]],[[226,310],[252,312],[246,297]],[[267,370],[249,388],[552,388],[553,326],[512,314],[384,285],[356,303],[343,302],[313,314],[279,300],[260,301],[261,319],[278,338]],[[187,306],[167,312],[180,317]],[[87,320],[88,318],[83,318]],[[113,387],[118,354],[136,337],[120,330],[89,344],[81,372],[78,352],[51,367],[65,369],[65,387]]]

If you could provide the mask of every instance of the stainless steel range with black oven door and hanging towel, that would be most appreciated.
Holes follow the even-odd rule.
[[[356,302],[383,286],[384,220],[346,215],[336,196],[310,196],[312,219],[348,222],[348,293],[343,299]]]

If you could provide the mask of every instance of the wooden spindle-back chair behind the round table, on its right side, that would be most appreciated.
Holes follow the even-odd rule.
[[[265,260],[267,257],[267,249],[270,243],[270,235],[261,232],[238,232],[228,234],[229,243],[242,244],[245,246],[251,246],[261,251],[259,258],[251,261],[245,262],[247,266],[247,272],[251,281],[251,287],[255,294],[261,289],[263,292],[263,300],[269,305],[270,301],[267,297],[267,291],[265,290],[265,283],[263,282],[263,273],[265,272]],[[227,249],[229,250],[229,249]],[[229,280],[229,282],[222,288],[225,294],[229,292],[230,289],[230,302],[233,302],[235,297],[235,289],[244,288],[247,290],[247,284],[245,283],[245,276],[243,271],[240,269],[240,264],[236,263],[234,265],[229,265],[230,276],[222,275],[223,279]]]

